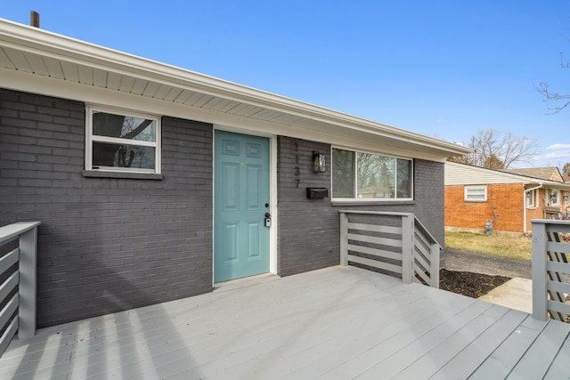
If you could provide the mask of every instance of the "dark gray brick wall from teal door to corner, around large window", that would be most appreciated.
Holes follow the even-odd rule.
[[[281,276],[339,263],[338,210],[341,209],[414,213],[443,246],[444,164],[414,160],[413,201],[332,206],[330,198],[307,199],[305,195],[306,187],[326,187],[330,193],[330,145],[280,136],[278,146]],[[313,173],[313,150],[327,156],[326,173]]]

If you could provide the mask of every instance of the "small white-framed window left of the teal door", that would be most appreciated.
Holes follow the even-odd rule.
[[[86,109],[85,170],[160,173],[159,117]]]

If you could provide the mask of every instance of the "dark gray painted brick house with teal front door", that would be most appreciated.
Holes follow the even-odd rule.
[[[469,151],[6,20],[0,87],[0,225],[42,222],[39,327],[336,265],[341,209],[443,246],[445,158]]]

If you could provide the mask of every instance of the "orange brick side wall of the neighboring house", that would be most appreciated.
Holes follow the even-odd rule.
[[[524,190],[520,183],[489,184],[486,202],[466,202],[465,186],[445,186],[445,226],[485,230],[498,214],[493,230],[522,232]]]

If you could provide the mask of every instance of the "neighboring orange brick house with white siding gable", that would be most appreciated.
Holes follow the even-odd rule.
[[[557,167],[485,169],[445,163],[445,228],[526,233],[531,220],[567,214],[570,183]]]

